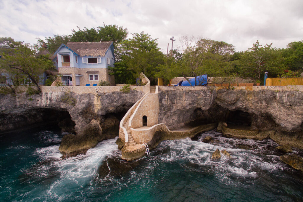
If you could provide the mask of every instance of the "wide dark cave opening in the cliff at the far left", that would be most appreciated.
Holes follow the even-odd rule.
[[[67,110],[49,108],[34,108],[1,114],[1,123],[3,123],[1,128],[3,130],[0,133],[45,127],[75,134],[76,125]]]

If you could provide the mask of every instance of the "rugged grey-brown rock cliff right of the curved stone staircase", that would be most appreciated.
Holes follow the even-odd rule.
[[[185,90],[159,88],[158,122],[173,130],[187,125],[229,122],[247,114],[250,128],[280,144],[303,148],[303,92],[259,89]],[[239,114],[239,113],[238,113]],[[239,119],[238,119],[239,120]]]

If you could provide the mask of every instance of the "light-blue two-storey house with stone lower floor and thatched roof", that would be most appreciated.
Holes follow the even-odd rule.
[[[115,85],[108,67],[114,67],[113,42],[68,42],[54,53],[62,83],[66,86],[98,84],[101,80]]]

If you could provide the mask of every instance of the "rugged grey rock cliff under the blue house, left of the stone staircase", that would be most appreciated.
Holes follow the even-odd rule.
[[[0,95],[0,134],[28,126],[58,124],[74,133],[62,138],[63,157],[85,153],[99,141],[118,135],[119,119],[144,93],[51,92]]]

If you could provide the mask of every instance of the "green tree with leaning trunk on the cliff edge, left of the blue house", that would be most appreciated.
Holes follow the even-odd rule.
[[[0,60],[0,67],[3,72],[7,72],[14,85],[34,84],[41,92],[39,76],[47,70],[54,68],[53,62],[48,59],[48,55],[35,57],[36,50],[29,44],[21,42],[18,48],[11,52],[3,52]]]

